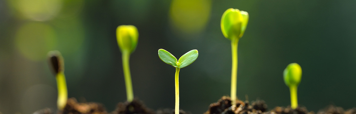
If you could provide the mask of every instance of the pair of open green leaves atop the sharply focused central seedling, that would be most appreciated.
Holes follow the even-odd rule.
[[[163,62],[170,64],[173,67],[184,68],[189,64],[192,64],[198,58],[198,50],[190,50],[180,57],[179,61],[177,61],[176,57],[164,49],[158,50],[158,56]]]

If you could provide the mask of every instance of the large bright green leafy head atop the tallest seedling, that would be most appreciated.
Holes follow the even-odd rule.
[[[221,17],[221,32],[227,39],[240,39],[245,33],[247,23],[247,12],[229,8]]]

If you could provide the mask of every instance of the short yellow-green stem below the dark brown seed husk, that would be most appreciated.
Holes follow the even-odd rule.
[[[57,80],[57,88],[58,88],[58,99],[57,99],[57,107],[58,110],[63,110],[67,104],[68,99],[68,91],[67,91],[67,83],[66,77],[63,72],[59,72],[56,75]]]

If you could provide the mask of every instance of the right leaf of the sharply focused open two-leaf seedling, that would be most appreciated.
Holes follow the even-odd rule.
[[[192,64],[198,58],[198,50],[190,50],[179,58],[178,68],[187,67]]]

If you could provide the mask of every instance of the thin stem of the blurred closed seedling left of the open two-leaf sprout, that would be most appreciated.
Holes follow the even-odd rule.
[[[132,90],[131,73],[130,73],[129,51],[122,52],[122,68],[124,69],[127,101],[131,102],[133,100],[133,90]]]

